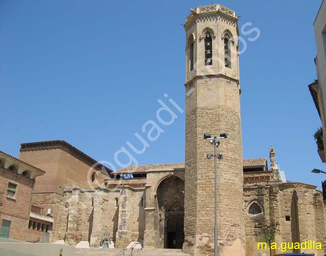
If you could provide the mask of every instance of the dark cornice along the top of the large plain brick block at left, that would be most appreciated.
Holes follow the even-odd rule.
[[[94,166],[93,168],[96,170],[101,170],[104,168],[107,172],[112,172],[106,166],[100,164],[95,159],[91,158],[90,156],[86,155],[84,152],[80,151],[78,148],[75,148],[68,142],[64,140],[51,140],[51,141],[40,141],[40,142],[31,142],[31,143],[22,143],[21,144],[21,152],[24,151],[35,151],[35,150],[48,150],[48,149],[57,149],[60,148],[67,153],[70,153],[72,156],[76,157],[77,159],[83,161],[84,163]]]

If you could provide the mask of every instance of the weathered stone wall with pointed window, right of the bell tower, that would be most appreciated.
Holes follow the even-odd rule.
[[[275,235],[278,249],[273,253],[303,252],[323,256],[325,251],[325,205],[321,193],[313,186],[302,183],[260,182],[244,188],[244,216],[246,226],[246,254],[251,256],[268,255],[268,249],[258,249],[257,242],[264,242],[261,228],[271,221],[279,223]],[[252,202],[261,205],[263,211],[249,214]],[[281,243],[304,242],[314,240],[321,242],[322,250],[314,249],[281,250]]]

